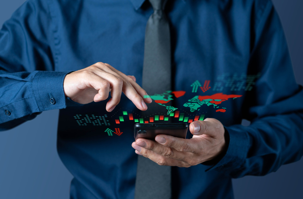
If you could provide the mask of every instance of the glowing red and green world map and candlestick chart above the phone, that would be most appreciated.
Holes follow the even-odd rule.
[[[133,125],[135,123],[153,123],[153,122],[188,122],[193,121],[203,121],[205,118],[205,110],[203,109],[203,114],[199,114],[200,109],[203,107],[211,107],[214,112],[218,114],[225,113],[229,108],[230,103],[225,101],[231,101],[242,97],[239,94],[226,94],[230,91],[251,91],[253,85],[260,77],[257,75],[245,75],[245,74],[229,74],[223,73],[219,75],[216,81],[211,82],[210,80],[204,80],[203,86],[196,80],[188,86],[191,86],[191,92],[186,94],[184,90],[178,91],[165,91],[161,94],[145,95],[144,98],[151,98],[152,103],[157,103],[158,105],[165,106],[167,113],[155,113],[155,115],[150,115],[149,117],[143,117],[140,113],[133,112],[133,109],[123,109],[122,107],[116,111],[116,113],[108,113],[104,115],[98,114],[76,114],[74,115],[74,120],[79,126],[106,126],[104,129],[100,129],[101,132],[105,132],[107,136],[121,136],[123,134],[123,129],[125,125]],[[213,85],[211,85],[213,84]],[[200,89],[201,90],[200,90]],[[216,93],[216,91],[222,91]],[[205,92],[210,92],[208,95],[203,95]],[[233,92],[233,93],[234,93]],[[243,92],[242,92],[243,93]],[[186,94],[186,95],[185,95]],[[171,106],[169,101],[176,100],[177,103],[174,107]],[[225,105],[222,107],[222,105]],[[208,109],[209,111],[209,109]],[[190,114],[190,113],[192,114]],[[96,112],[98,113],[98,112]],[[206,111],[207,113],[207,111]],[[114,127],[111,129],[111,123]],[[82,128],[82,127],[79,127]],[[88,128],[88,127],[86,127]],[[99,127],[93,127],[99,128]]]

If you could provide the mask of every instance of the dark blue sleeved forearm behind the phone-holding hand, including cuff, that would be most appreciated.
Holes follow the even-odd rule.
[[[303,112],[264,117],[249,126],[232,125],[226,129],[229,148],[211,169],[231,177],[266,175],[303,155]]]

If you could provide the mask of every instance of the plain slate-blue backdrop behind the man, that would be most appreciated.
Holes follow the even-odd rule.
[[[0,25],[24,0],[0,2]],[[281,18],[297,82],[303,85],[303,1],[273,0]],[[100,60],[102,61],[102,60]],[[58,110],[0,132],[0,198],[69,198],[71,174],[56,151]],[[302,143],[303,145],[303,143]],[[302,198],[303,160],[283,165],[265,177],[233,180],[235,198]]]

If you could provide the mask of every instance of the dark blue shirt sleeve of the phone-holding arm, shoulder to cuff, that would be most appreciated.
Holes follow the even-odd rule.
[[[208,170],[231,177],[265,175],[303,155],[303,90],[297,85],[285,35],[271,1],[255,1],[261,13],[252,24],[249,73],[261,72],[247,92],[243,115],[249,126],[225,126],[225,156]],[[266,3],[264,3],[266,2]]]

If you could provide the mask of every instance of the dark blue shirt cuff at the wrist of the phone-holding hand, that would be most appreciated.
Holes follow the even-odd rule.
[[[217,164],[210,166],[205,171],[216,169],[220,172],[230,173],[241,169],[245,163],[250,147],[249,136],[245,126],[233,125],[224,127],[225,133],[229,134],[229,144],[224,157]]]

